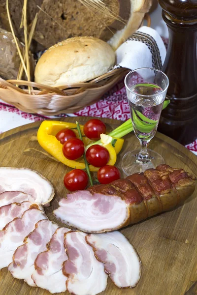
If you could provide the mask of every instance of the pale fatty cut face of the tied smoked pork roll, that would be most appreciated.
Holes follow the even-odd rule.
[[[104,233],[127,225],[130,218],[129,207],[115,195],[77,191],[61,199],[54,216],[86,233]]]

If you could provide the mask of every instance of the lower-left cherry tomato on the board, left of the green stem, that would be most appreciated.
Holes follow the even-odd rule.
[[[74,169],[65,175],[64,184],[69,191],[82,190],[88,185],[88,176],[85,171]]]

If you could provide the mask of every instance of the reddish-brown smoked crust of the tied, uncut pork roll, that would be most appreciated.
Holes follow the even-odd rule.
[[[116,195],[126,201],[131,213],[129,224],[133,224],[181,205],[193,194],[195,186],[196,177],[164,164],[107,185],[90,187],[89,191]]]

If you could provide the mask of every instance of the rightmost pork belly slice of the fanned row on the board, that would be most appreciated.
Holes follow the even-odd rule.
[[[141,262],[129,240],[120,232],[89,234],[86,241],[105,272],[119,288],[135,287],[141,276]]]

